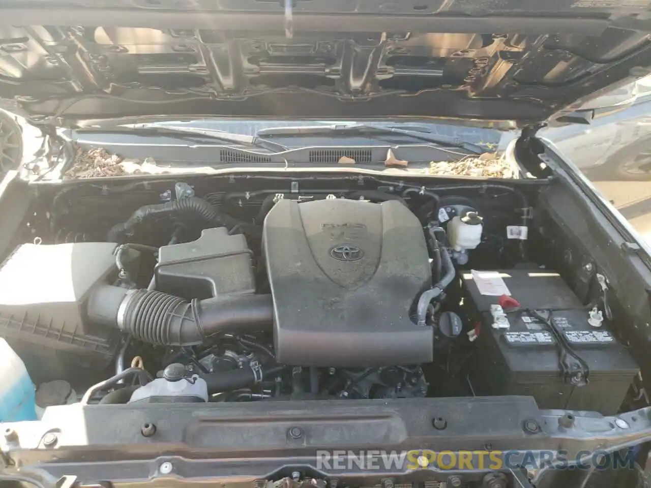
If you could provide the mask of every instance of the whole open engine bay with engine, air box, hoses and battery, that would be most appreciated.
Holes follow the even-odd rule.
[[[543,188],[43,187],[0,267],[0,336],[39,390],[83,403],[527,395],[614,414],[639,366],[607,286],[553,247]]]

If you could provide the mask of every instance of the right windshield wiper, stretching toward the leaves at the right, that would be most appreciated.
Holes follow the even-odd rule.
[[[256,136],[282,136],[282,135],[370,135],[370,134],[400,134],[411,139],[417,139],[424,142],[432,142],[433,144],[440,144],[441,146],[451,146],[455,148],[462,148],[473,154],[483,154],[486,152],[482,146],[473,144],[472,142],[461,141],[457,137],[450,137],[447,135],[432,134],[420,130],[402,129],[396,126],[375,126],[373,124],[355,124],[355,125],[323,125],[323,126],[297,126],[297,127],[271,127],[268,129],[260,129],[256,132]],[[438,148],[445,150],[444,148]]]

